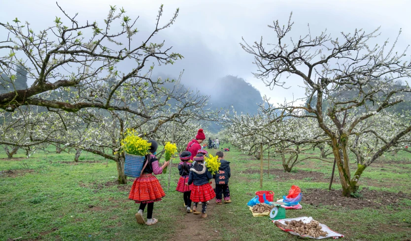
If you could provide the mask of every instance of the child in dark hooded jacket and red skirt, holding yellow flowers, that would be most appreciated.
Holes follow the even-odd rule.
[[[186,183],[186,185],[191,185],[192,183],[194,184],[191,187],[190,196],[191,200],[194,202],[194,214],[201,213],[201,217],[207,217],[207,201],[215,197],[215,192],[209,183],[209,180],[212,179],[212,175],[204,165],[203,154],[197,154],[196,157],[194,157],[194,160],[195,164],[190,169],[188,183]],[[203,203],[201,212],[197,211],[197,206],[199,202]]]

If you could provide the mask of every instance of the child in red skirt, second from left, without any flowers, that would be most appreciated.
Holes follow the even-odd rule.
[[[181,162],[178,164],[178,171],[180,171],[180,179],[177,183],[176,191],[183,193],[184,198],[184,207],[187,209],[187,212],[193,212],[191,210],[191,187],[193,185],[187,186],[185,183],[188,182],[188,175],[190,174],[190,168],[192,167],[190,161],[191,152],[190,151],[183,151],[180,154]]]

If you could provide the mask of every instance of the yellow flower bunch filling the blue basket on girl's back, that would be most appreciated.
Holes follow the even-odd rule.
[[[127,129],[126,137],[120,143],[123,151],[133,155],[146,155],[151,147],[151,143],[138,137],[137,131],[134,129]]]

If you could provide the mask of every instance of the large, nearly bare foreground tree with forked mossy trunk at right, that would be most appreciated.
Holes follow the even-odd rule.
[[[295,75],[303,81],[306,89],[304,98],[272,106],[271,110],[281,111],[281,118],[317,121],[319,128],[330,139],[343,196],[349,197],[357,191],[363,171],[385,151],[401,143],[411,131],[411,125],[405,124],[383,138],[384,141],[377,137],[381,141],[375,146],[373,154],[366,161],[359,162],[355,173],[351,173],[351,139],[358,137],[361,141],[360,137],[364,134],[376,135],[357,131],[358,126],[374,116],[388,115],[385,110],[403,102],[404,95],[411,92],[408,84],[394,88],[397,80],[407,79],[411,75],[410,61],[406,60],[408,48],[396,51],[398,37],[391,46],[388,46],[388,40],[371,46],[371,40],[378,36],[379,29],[369,33],[364,30],[341,32],[340,37],[333,38],[326,31],[312,36],[308,28],[308,34],[286,40],[292,27],[290,15],[288,24],[284,26],[278,21],[269,25],[276,34],[273,44],[263,44],[261,38],[252,45],[244,41],[241,46],[254,56],[257,66],[254,75],[267,87],[284,86],[287,82],[281,79],[283,75]],[[347,91],[355,94],[344,95]],[[316,104],[311,105],[314,97]],[[325,100],[327,108],[323,111]],[[300,102],[306,104],[298,104]],[[327,122],[327,118],[330,121]]]

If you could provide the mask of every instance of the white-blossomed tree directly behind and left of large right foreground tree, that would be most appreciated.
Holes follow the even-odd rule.
[[[270,112],[270,108],[264,109],[264,106],[260,106],[258,114],[253,116],[227,113],[225,125],[231,133],[230,142],[249,154],[260,151],[261,143],[265,151],[274,148],[273,151],[281,156],[285,172],[291,172],[296,164],[306,159],[330,162],[321,157],[301,158],[300,154],[328,141],[315,121],[299,118],[277,119],[277,117],[278,113]],[[246,144],[242,143],[244,140]]]

